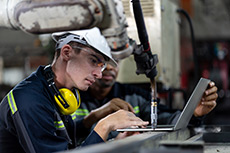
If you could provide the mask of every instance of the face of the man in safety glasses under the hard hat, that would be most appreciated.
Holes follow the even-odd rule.
[[[102,77],[101,64],[104,64],[104,61],[101,54],[89,47],[82,48],[78,54],[73,49],[73,54],[67,61],[66,67],[67,76],[71,80],[67,80],[71,82],[70,88],[76,87],[80,90],[87,90],[96,79]]]

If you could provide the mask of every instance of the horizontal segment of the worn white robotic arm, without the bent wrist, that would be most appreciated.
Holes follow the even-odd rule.
[[[104,16],[98,1],[2,0],[0,3],[1,27],[32,34],[89,28],[102,22]]]

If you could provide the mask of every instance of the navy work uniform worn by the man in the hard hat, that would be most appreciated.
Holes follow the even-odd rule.
[[[0,153],[50,153],[76,147],[81,121],[61,115],[43,66],[14,87],[0,104]],[[103,142],[92,131],[84,145]]]

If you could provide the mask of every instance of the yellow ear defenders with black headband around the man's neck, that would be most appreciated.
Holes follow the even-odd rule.
[[[59,107],[60,112],[63,115],[70,115],[75,112],[81,104],[79,91],[75,89],[75,96],[75,94],[67,88],[61,88],[58,90],[54,83],[54,74],[50,65],[47,65],[44,68],[44,75],[49,84],[49,87],[54,93],[54,99]]]

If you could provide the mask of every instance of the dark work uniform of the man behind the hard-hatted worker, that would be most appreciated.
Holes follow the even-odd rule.
[[[76,117],[79,121],[81,121],[81,123],[83,118],[88,115],[90,111],[101,107],[113,98],[120,98],[130,103],[134,108],[136,116],[140,117],[144,121],[150,122],[151,93],[142,88],[116,82],[108,96],[101,101],[93,98],[93,96],[90,96],[89,91],[81,91],[80,94],[82,97],[81,106],[76,111]],[[158,105],[158,124],[175,124],[180,113],[180,111],[169,113],[166,106]],[[192,121],[194,123],[200,123],[199,118],[193,118]],[[90,131],[91,129],[82,130],[79,137],[84,140]],[[116,131],[111,132],[109,139],[116,137],[117,134],[118,132]],[[78,143],[80,144],[81,142]]]

